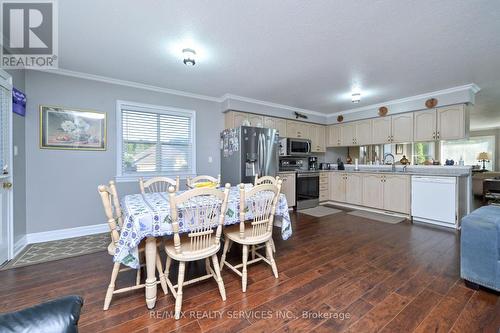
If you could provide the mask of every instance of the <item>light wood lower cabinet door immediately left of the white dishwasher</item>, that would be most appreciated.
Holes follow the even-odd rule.
[[[384,209],[410,213],[410,176],[386,175],[384,183]]]

